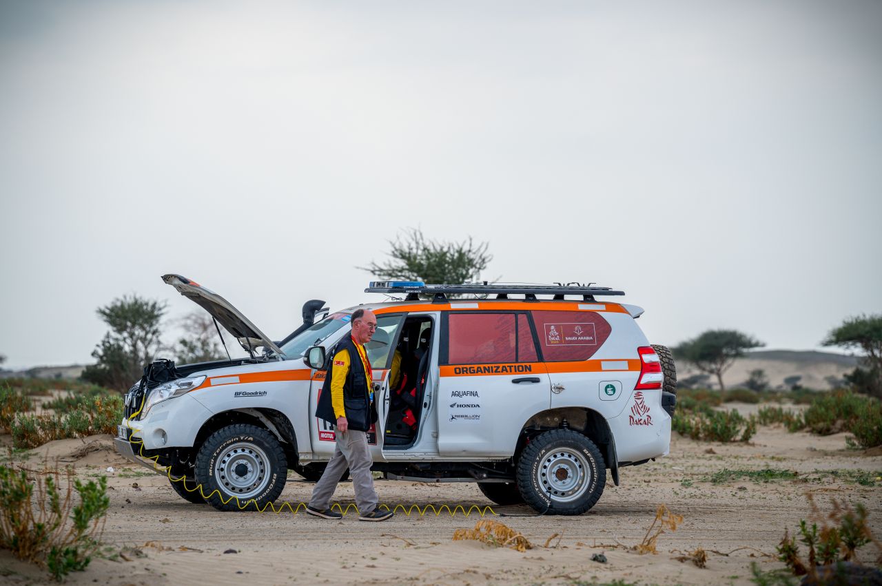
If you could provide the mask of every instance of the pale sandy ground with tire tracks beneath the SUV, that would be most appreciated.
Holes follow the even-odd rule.
[[[8,436],[0,441],[8,444]],[[792,532],[800,518],[810,516],[806,493],[823,509],[831,498],[863,503],[874,534],[882,536],[882,479],[875,479],[882,475],[882,454],[846,449],[845,434],[818,437],[760,427],[746,445],[691,441],[674,434],[670,456],[623,469],[622,485],[609,480],[601,501],[586,515],[534,516],[524,507],[494,507],[500,516],[488,512],[487,518],[520,531],[534,544],[526,553],[452,541],[454,530],[475,526],[480,517],[474,509],[470,516],[399,512],[385,523],[360,523],[354,515],[325,521],[287,510],[280,515],[220,513],[183,501],[166,478],[126,464],[109,444],[109,436],[55,441],[25,461],[34,466],[44,456],[59,457],[75,464],[81,478],[108,476],[111,508],[103,541],[116,551],[122,548],[127,560],[93,560],[86,572],[70,576],[72,584],[744,584],[751,583],[751,562],[764,570],[781,567],[772,557],[774,546],[785,529]],[[114,471],[108,472],[108,466]],[[711,481],[716,471],[766,468],[799,476]],[[838,471],[838,476],[825,471]],[[873,484],[857,484],[849,476],[857,471],[871,472]],[[311,487],[292,473],[282,498],[307,501]],[[470,484],[378,480],[377,493],[390,506],[468,509],[491,504]],[[342,484],[337,496],[344,506],[353,502],[351,482]],[[659,538],[659,553],[639,555],[616,546],[638,544],[662,503],[684,521]],[[562,537],[544,547],[555,533]],[[705,568],[676,560],[699,547],[708,552]],[[592,561],[594,553],[605,554],[607,562]],[[867,547],[861,555],[870,561],[876,553]],[[0,553],[0,582],[50,583],[40,568],[8,552]]]

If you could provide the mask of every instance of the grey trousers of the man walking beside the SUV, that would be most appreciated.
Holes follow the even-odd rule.
[[[366,515],[377,508],[377,492],[374,490],[374,477],[370,474],[370,448],[368,436],[364,432],[348,430],[340,434],[338,430],[337,449],[328,462],[325,473],[312,489],[310,508],[324,511],[331,506],[331,497],[340,482],[343,472],[349,469],[352,485],[355,487],[355,506],[360,515]]]

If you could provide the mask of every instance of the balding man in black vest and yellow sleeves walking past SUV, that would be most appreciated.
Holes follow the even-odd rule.
[[[377,316],[370,309],[352,314],[352,334],[340,340],[331,356],[331,367],[318,397],[316,417],[336,426],[337,449],[312,491],[306,512],[324,519],[339,519],[331,510],[331,497],[343,472],[349,469],[355,486],[359,521],[385,521],[392,511],[377,510],[377,492],[370,475],[370,448],[366,432],[377,421],[373,404],[370,361],[364,345],[377,330]]]

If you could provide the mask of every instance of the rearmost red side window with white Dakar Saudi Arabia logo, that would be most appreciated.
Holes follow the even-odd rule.
[[[587,360],[612,331],[594,311],[534,311],[533,321],[547,362]]]

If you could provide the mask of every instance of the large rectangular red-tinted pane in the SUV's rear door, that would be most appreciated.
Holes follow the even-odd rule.
[[[448,364],[515,361],[514,314],[451,314],[447,328]]]

